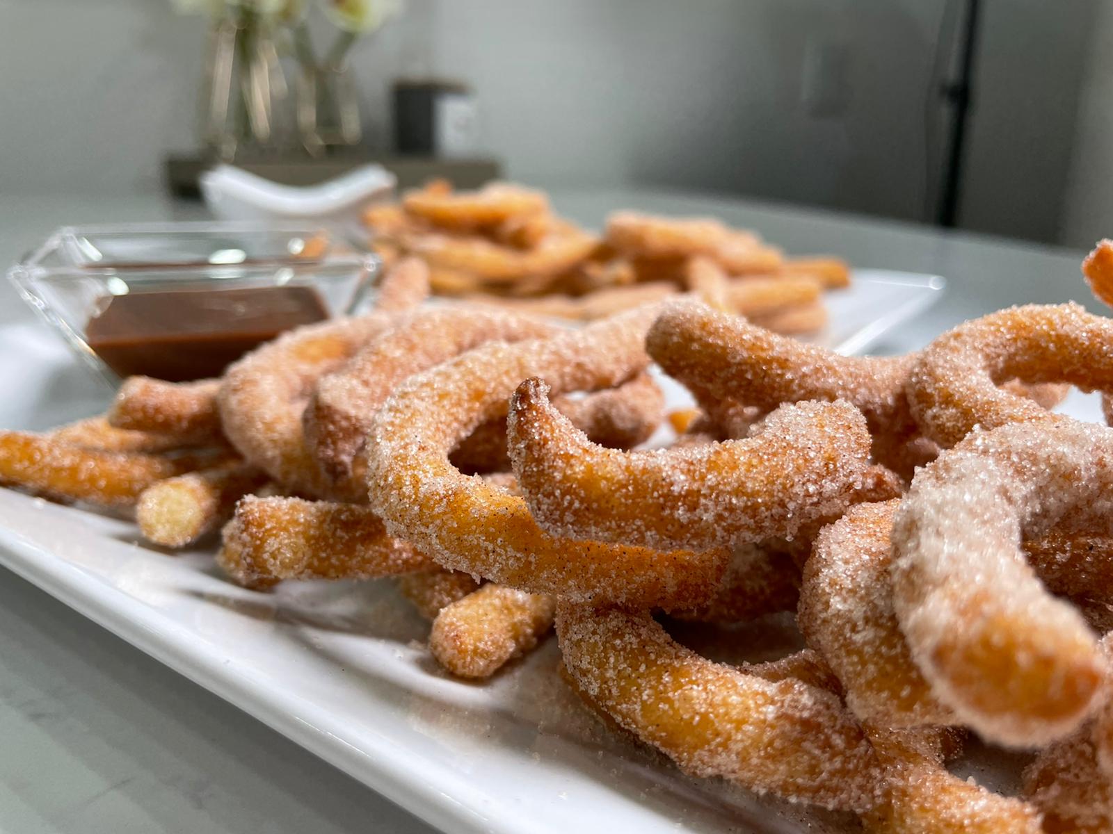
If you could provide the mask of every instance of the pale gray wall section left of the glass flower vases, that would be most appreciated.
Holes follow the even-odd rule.
[[[0,189],[156,187],[189,143],[201,31],[160,0],[0,0]]]

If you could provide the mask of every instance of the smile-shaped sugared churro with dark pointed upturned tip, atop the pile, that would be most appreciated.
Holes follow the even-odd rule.
[[[591,444],[546,394],[539,379],[518,387],[508,437],[530,512],[555,536],[658,549],[790,538],[847,505],[869,457],[846,403],[786,406],[747,440],[624,453]]]

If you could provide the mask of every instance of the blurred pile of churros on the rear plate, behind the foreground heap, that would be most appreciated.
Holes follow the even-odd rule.
[[[439,180],[363,219],[387,264],[427,264],[436,295],[580,321],[692,291],[770,330],[810,334],[827,321],[824,292],[850,281],[838,258],[786,258],[713,218],[615,211],[592,235],[512,183],[453,191]]]

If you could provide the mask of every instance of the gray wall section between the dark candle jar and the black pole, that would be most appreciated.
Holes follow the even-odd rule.
[[[472,0],[440,8],[437,60],[476,82],[489,135],[515,172],[915,218],[940,8],[936,0]],[[815,43],[849,57],[848,97],[836,115],[811,115],[801,100]]]

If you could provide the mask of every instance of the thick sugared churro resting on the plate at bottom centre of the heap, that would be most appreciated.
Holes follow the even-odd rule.
[[[561,603],[564,666],[620,726],[698,776],[825,807],[880,801],[880,767],[830,692],[707,661],[649,614]]]

